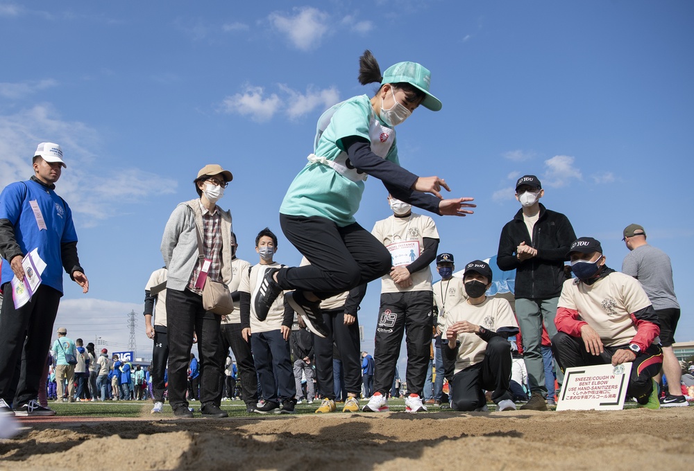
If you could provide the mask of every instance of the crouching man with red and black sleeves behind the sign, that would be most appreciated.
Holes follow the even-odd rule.
[[[569,256],[576,278],[561,288],[552,350],[562,369],[573,366],[632,362],[627,394],[649,409],[659,409],[660,372],[658,316],[641,285],[605,265],[598,240],[582,237]]]

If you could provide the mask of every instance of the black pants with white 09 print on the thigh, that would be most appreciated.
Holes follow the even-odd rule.
[[[373,350],[373,391],[386,396],[393,387],[400,344],[406,333],[407,394],[422,396],[429,368],[434,294],[431,291],[382,293]]]

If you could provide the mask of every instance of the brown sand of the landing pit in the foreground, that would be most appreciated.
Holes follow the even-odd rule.
[[[691,470],[694,407],[22,420],[1,470]]]

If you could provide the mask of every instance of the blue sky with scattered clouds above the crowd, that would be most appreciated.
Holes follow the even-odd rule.
[[[689,341],[693,20],[694,3],[671,0],[0,0],[0,188],[31,175],[37,143],[62,145],[58,193],[74,212],[90,292],[69,283],[56,322],[119,350],[135,310],[139,355],[149,357],[144,285],[197,170],[234,173],[220,205],[241,258],[257,262],[255,234],[269,226],[276,259],[298,264],[278,208],[323,110],[373,95],[375,85],[357,82],[369,48],[382,70],[412,60],[432,71],[443,109],[416,110],[398,126],[398,149],[409,170],[475,197],[474,215],[434,216],[440,251],[458,268],[496,254],[519,207],[514,180],[532,173],[545,206],[601,240],[611,267],[627,254],[622,229],[645,226],[672,258],[676,339]],[[371,229],[389,213],[386,190],[369,179],[357,220]],[[369,285],[359,312],[369,351],[379,290]]]

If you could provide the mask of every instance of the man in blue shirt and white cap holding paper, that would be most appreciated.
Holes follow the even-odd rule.
[[[0,412],[11,411],[24,416],[50,414],[51,409],[38,401],[39,382],[51,344],[53,323],[62,296],[62,269],[65,269],[83,292],[89,281],[77,256],[77,233],[72,212],[55,192],[65,162],[60,145],[40,143],[32,161],[33,175],[5,187],[0,195],[0,286],[6,300],[0,312]],[[33,249],[46,267],[41,285],[31,299],[15,308],[10,281],[24,279],[22,260]],[[19,382],[14,398],[12,389],[17,360],[22,358]]]

